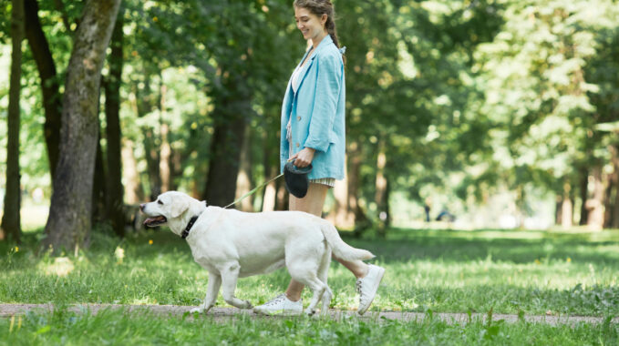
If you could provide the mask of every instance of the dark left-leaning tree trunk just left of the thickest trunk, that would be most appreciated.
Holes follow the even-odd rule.
[[[44,136],[46,139],[49,172],[53,180],[56,177],[60,145],[62,98],[60,96],[54,58],[49,50],[46,36],[38,19],[36,0],[25,0],[24,9],[26,11],[26,38],[36,62],[38,75],[41,78],[43,107],[46,115]]]

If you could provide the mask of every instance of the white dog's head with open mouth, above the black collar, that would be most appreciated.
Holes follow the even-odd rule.
[[[168,222],[182,219],[182,216],[191,206],[193,198],[182,192],[169,191],[160,194],[153,202],[139,205],[139,209],[146,214],[146,227],[157,227]]]

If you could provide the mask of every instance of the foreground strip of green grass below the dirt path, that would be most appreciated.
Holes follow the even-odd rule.
[[[0,319],[0,345],[83,344],[239,344],[239,345],[616,345],[619,326],[580,323],[574,326],[525,321],[492,324],[480,320],[449,324],[423,321],[343,321],[252,319],[214,320],[102,310],[97,315],[57,310]]]

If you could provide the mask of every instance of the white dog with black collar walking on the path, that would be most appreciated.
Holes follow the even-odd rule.
[[[320,300],[321,312],[325,313],[332,297],[326,285],[331,252],[343,260],[374,257],[365,249],[346,244],[330,222],[300,211],[246,213],[207,207],[205,201],[176,191],[139,207],[149,217],[145,225],[167,224],[173,233],[187,239],[193,260],[209,270],[206,297],[191,312],[210,310],[220,286],[227,303],[251,309],[249,301],[234,297],[236,280],[285,265],[294,280],[314,292],[305,313],[314,314]]]

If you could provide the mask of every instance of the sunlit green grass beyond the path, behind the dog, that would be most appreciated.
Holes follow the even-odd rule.
[[[208,273],[168,231],[120,240],[93,234],[88,251],[63,258],[26,244],[0,244],[0,302],[197,305]],[[392,230],[384,240],[346,239],[377,254],[387,274],[371,310],[572,315],[619,314],[619,232]],[[150,244],[150,240],[152,244]],[[115,256],[124,251],[122,261]],[[63,275],[65,274],[66,275]],[[285,270],[239,280],[254,305],[285,289]],[[333,263],[336,309],[356,308],[354,278]],[[304,291],[304,299],[310,297]],[[220,295],[218,305],[226,303]]]

